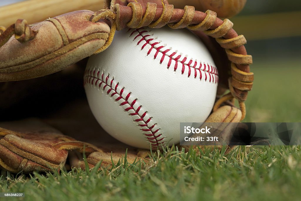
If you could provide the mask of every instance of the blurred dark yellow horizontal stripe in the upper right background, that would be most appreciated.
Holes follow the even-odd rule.
[[[233,29],[250,40],[301,36],[301,11],[232,17]]]

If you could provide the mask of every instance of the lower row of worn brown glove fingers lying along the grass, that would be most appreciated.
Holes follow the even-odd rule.
[[[68,125],[65,125],[66,127],[68,128]],[[85,132],[80,134],[85,135]],[[110,141],[111,138],[107,137]],[[138,151],[122,143],[117,142],[114,146],[117,148],[107,145],[100,149],[90,143],[83,143],[63,135],[39,119],[0,123],[0,168],[13,173],[59,171],[66,163],[68,150],[70,165],[83,169],[85,169],[85,162],[82,160],[83,151],[85,151],[90,168],[100,161],[102,167],[112,166],[112,160],[114,164],[117,164],[119,159],[125,156],[126,151],[126,159],[130,163],[138,162],[140,159],[145,160],[148,156],[146,151]],[[114,150],[113,155],[112,150]]]

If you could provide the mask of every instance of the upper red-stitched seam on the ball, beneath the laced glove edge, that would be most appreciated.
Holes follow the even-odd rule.
[[[132,29],[129,29],[128,31],[130,31]],[[197,68],[197,61],[194,61],[190,59],[188,61],[188,58],[185,56],[182,61],[180,60],[180,58],[182,57],[181,54],[177,55],[177,52],[172,52],[170,55],[168,55],[167,53],[171,51],[171,49],[165,49],[165,46],[158,46],[156,47],[156,45],[160,44],[160,42],[153,42],[151,43],[151,41],[155,40],[155,38],[149,37],[152,36],[150,34],[147,34],[148,30],[145,30],[144,27],[139,28],[139,29],[135,29],[134,31],[132,31],[132,33],[130,34],[130,36],[133,36],[134,33],[137,32],[137,35],[134,35],[134,41],[141,36],[142,38],[137,42],[137,45],[139,45],[141,42],[145,42],[142,47],[141,50],[143,50],[147,45],[150,45],[151,48],[148,50],[147,52],[147,56],[151,54],[151,51],[154,49],[156,50],[156,53],[154,54],[154,59],[157,58],[158,53],[161,52],[163,55],[160,58],[160,64],[163,63],[164,59],[168,59],[168,64],[167,64],[167,68],[169,68],[171,66],[172,60],[175,61],[175,66],[174,66],[174,71],[176,71],[178,69],[178,66],[182,65],[182,70],[181,70],[181,74],[184,74],[185,72],[185,66],[188,67],[188,77],[191,76],[191,72],[194,72],[194,78],[197,78],[197,71],[200,73],[200,80],[203,79],[203,74],[205,77],[205,81],[208,80],[209,77],[209,83],[218,83],[219,81],[219,77],[218,77],[218,71],[216,67],[213,67],[212,65],[209,64],[205,64],[205,63],[201,63],[199,64],[199,67]],[[147,38],[147,39],[146,39]],[[165,49],[165,50],[163,50]],[[188,61],[188,62],[187,62]],[[192,65],[193,64],[193,65]],[[203,74],[202,74],[203,72]],[[208,76],[207,76],[208,74]]]

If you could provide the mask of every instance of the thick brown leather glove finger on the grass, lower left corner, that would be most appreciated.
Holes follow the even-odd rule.
[[[54,147],[65,138],[59,131],[33,119],[4,122],[0,126],[11,128],[0,128],[0,167],[3,169],[27,173],[51,171],[65,164],[68,151]]]

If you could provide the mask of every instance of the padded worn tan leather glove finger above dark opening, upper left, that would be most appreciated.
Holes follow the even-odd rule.
[[[49,18],[31,27],[37,34],[26,42],[11,37],[0,47],[0,81],[45,76],[92,55],[110,32],[103,20],[89,21],[93,14],[83,10]]]

